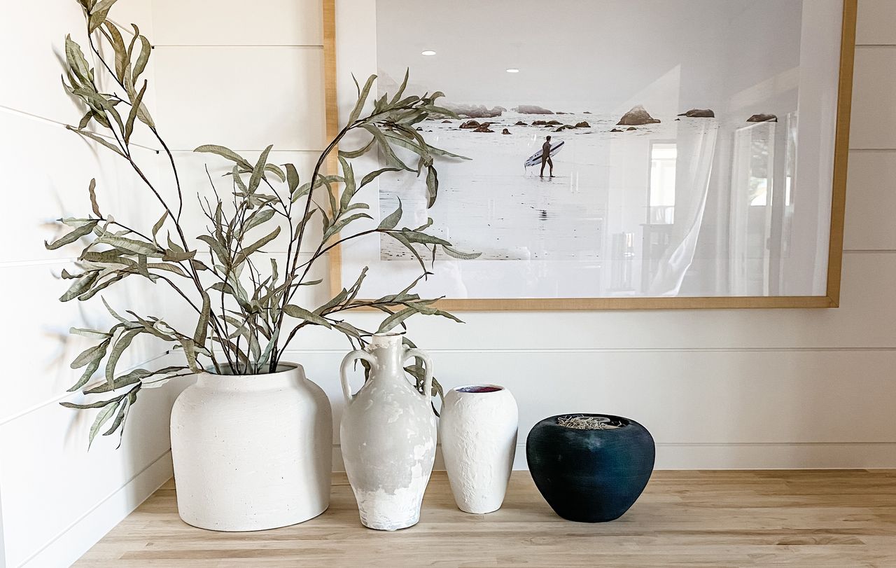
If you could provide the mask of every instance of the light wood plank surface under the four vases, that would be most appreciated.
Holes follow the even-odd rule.
[[[504,507],[455,506],[444,472],[420,523],[365,529],[344,474],[330,509],[284,529],[220,533],[177,517],[168,482],[76,566],[896,566],[896,471],[658,471],[613,522],[557,517],[529,473]]]

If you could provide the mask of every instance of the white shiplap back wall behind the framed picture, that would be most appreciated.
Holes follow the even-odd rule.
[[[412,320],[440,380],[510,387],[521,442],[541,417],[604,410],[650,428],[660,468],[896,467],[896,2],[859,4],[839,309]],[[153,2],[160,116],[176,118],[178,150],[273,143],[307,168],[323,143],[319,2],[256,1],[246,17],[275,22],[264,26],[233,18],[237,0],[204,5]],[[202,30],[184,14],[202,14]],[[330,394],[337,420],[344,351],[338,337],[309,333],[289,354]]]

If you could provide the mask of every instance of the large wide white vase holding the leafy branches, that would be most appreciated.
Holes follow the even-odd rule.
[[[177,512],[201,529],[307,521],[330,503],[332,410],[302,366],[199,374],[171,410]]]

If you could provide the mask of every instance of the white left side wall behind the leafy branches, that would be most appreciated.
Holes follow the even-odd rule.
[[[151,34],[148,2],[121,0],[118,18],[140,22]],[[68,284],[59,273],[80,251],[72,245],[44,248],[45,239],[61,234],[51,219],[90,211],[87,186],[93,176],[100,207],[117,219],[131,218],[147,206],[135,197],[139,182],[123,161],[63,127],[81,117],[60,84],[59,57],[69,32],[85,45],[81,9],[74,0],[4,4],[0,566],[70,564],[171,476],[168,412],[177,385],[142,393],[118,451],[114,436],[97,440],[88,453],[92,413],[58,404],[83,398],[65,392],[82,371],[70,369],[69,362],[86,347],[67,337],[68,328],[108,325],[109,318],[99,298],[87,305],[56,300]],[[156,175],[154,147],[136,150],[135,159]],[[105,296],[113,305],[127,303],[149,314],[164,310],[151,286],[109,288]],[[143,344],[122,366],[159,365],[165,357],[159,346]]]

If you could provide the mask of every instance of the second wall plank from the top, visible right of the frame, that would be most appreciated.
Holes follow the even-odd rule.
[[[849,148],[896,149],[896,47],[857,47]]]

